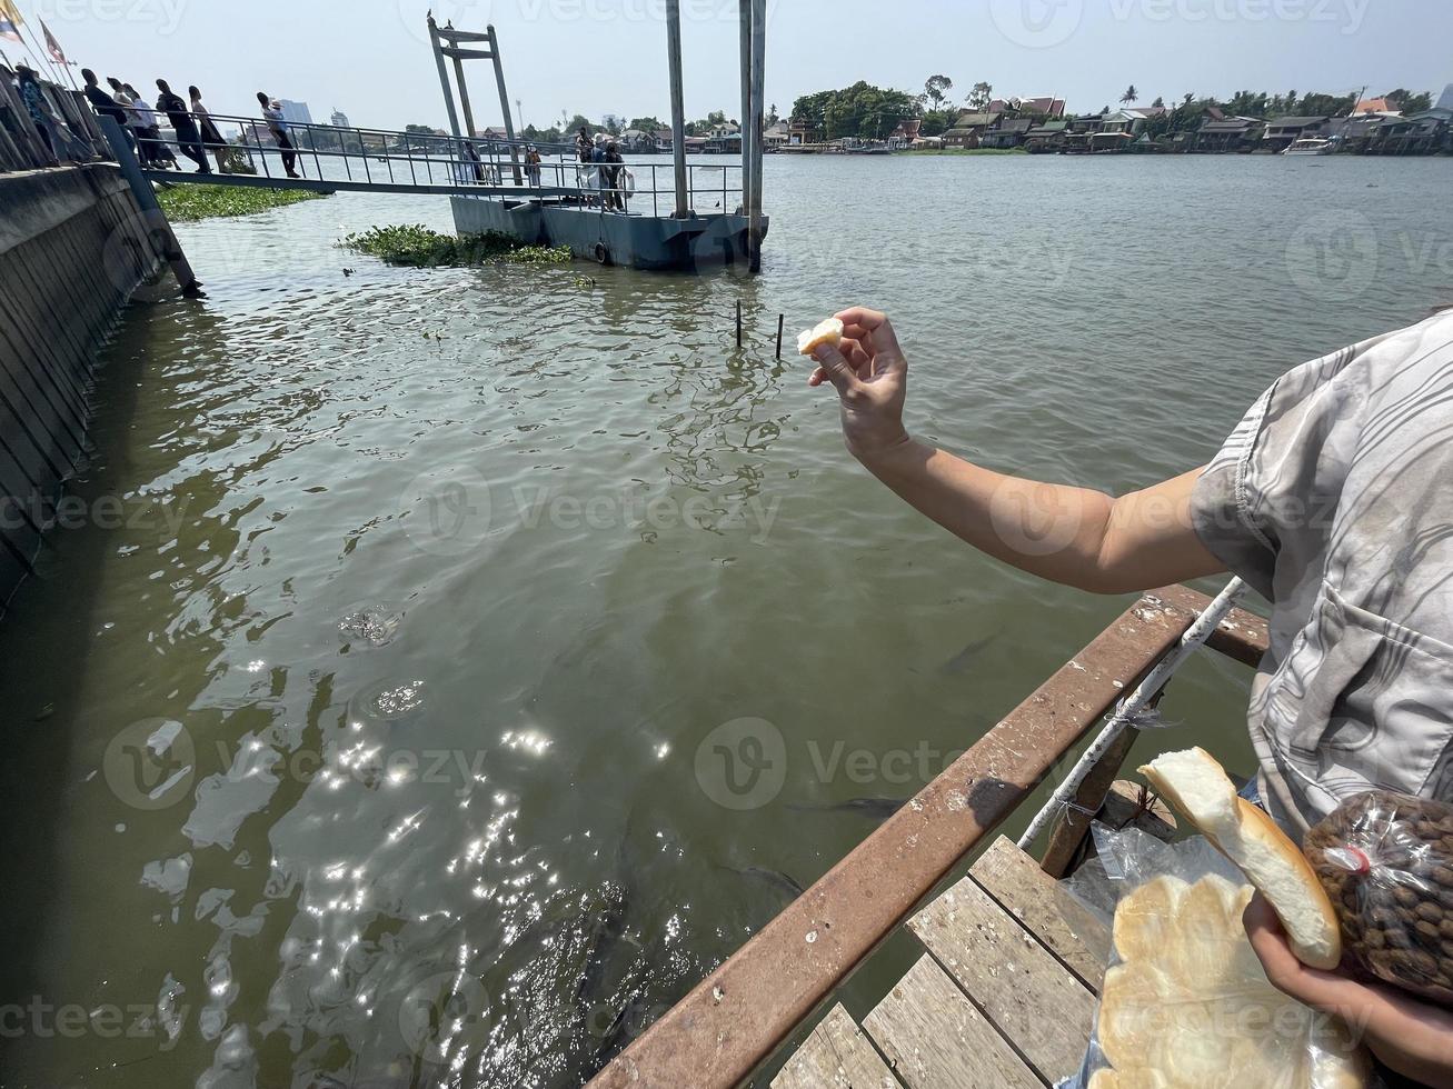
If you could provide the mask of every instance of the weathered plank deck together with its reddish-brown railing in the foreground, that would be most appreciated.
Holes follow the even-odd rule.
[[[1055,878],[1088,831],[1085,813],[1106,806],[1136,730],[1117,733],[1078,784],[1042,860],[997,839],[963,867],[1103,716],[1152,672],[1152,685],[1164,682],[1157,666],[1180,661],[1210,605],[1186,587],[1145,594],[616,1056],[593,1089],[728,1089],[783,1054],[779,1089],[1035,1089],[1074,1073],[1109,935]],[[1266,621],[1231,610],[1206,646],[1254,666]],[[921,955],[859,1027],[835,995],[904,923]]]

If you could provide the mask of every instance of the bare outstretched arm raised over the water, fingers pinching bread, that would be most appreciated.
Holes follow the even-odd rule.
[[[847,449],[879,481],[988,555],[1100,594],[1148,590],[1225,571],[1190,517],[1200,470],[1120,498],[985,469],[910,437],[908,362],[886,315],[853,308],[838,348],[815,353],[808,385],[837,389]]]

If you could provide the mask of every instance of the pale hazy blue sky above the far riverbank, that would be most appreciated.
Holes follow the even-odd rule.
[[[68,57],[150,90],[199,84],[216,113],[256,109],[266,90],[333,107],[356,125],[443,126],[424,33],[430,0],[17,0]],[[664,0],[433,0],[440,23],[500,35],[526,123],[561,110],[667,118]],[[681,0],[687,118],[740,113],[737,0]],[[1453,81],[1447,0],[769,0],[767,102],[856,80],[917,91],[942,73],[962,102],[988,80],[1003,94],[1059,94],[1098,110],[1135,83],[1141,100],[1238,89],[1372,93]],[[16,46],[0,42],[7,52]],[[478,125],[500,123],[488,62],[475,61]]]

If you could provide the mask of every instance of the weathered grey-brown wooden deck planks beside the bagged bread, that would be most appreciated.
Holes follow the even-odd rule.
[[[997,839],[908,928],[924,957],[862,1028],[834,1006],[773,1089],[1040,1089],[1080,1069],[1110,934],[1033,858]]]

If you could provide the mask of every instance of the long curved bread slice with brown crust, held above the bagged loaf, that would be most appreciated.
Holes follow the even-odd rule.
[[[1314,968],[1337,967],[1341,928],[1311,862],[1264,810],[1237,796],[1235,784],[1209,752],[1167,752],[1141,774],[1241,867],[1282,919],[1298,960]]]

